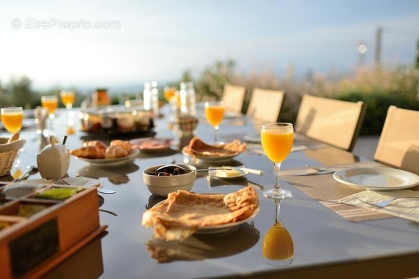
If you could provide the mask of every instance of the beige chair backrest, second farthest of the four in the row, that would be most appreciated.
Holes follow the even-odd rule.
[[[283,99],[283,91],[256,87],[252,91],[247,114],[259,122],[277,122]]]

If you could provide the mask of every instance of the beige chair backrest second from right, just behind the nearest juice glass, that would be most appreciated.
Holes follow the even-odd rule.
[[[364,121],[365,103],[303,95],[295,132],[352,151]]]

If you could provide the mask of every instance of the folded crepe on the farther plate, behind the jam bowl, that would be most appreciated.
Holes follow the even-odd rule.
[[[192,157],[196,157],[197,155],[207,157],[235,156],[245,149],[246,143],[241,143],[238,140],[221,145],[208,145],[195,136],[192,138],[189,145],[183,147],[183,153],[189,154]]]

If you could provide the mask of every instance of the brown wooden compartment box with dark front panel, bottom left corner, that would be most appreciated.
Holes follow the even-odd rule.
[[[46,186],[45,191],[55,186]],[[40,211],[17,216],[30,205]],[[99,223],[96,189],[83,188],[65,200],[47,200],[30,194],[15,200],[0,200],[0,278],[34,278],[83,247],[106,229]]]

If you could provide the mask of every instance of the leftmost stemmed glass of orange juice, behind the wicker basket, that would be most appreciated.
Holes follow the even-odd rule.
[[[3,122],[4,127],[10,134],[15,134],[20,132],[23,124],[23,107],[3,107],[0,110],[1,122]],[[19,152],[23,152],[23,148],[19,149]],[[13,177],[21,175],[21,169],[19,168],[20,159],[19,152],[15,158],[16,163],[14,167],[16,168]]]

